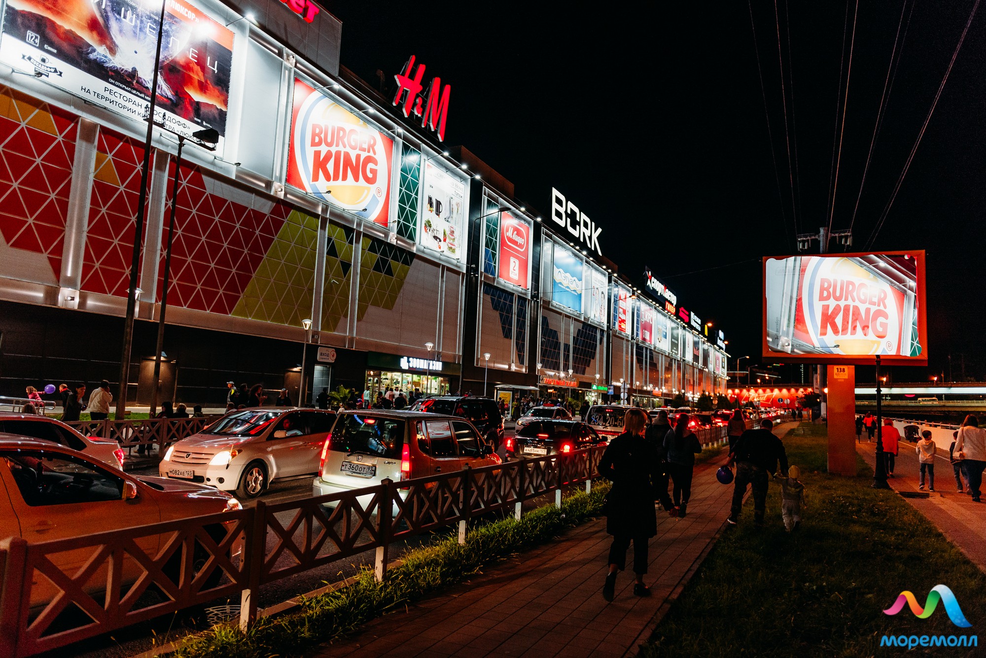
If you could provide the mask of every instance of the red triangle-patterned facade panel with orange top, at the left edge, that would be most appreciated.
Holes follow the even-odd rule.
[[[55,279],[78,126],[75,114],[0,86],[0,233],[11,247],[46,255]]]

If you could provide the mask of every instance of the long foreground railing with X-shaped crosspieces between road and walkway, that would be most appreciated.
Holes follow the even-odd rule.
[[[140,422],[135,422],[139,424]],[[155,435],[154,440],[159,439]],[[256,619],[258,588],[376,549],[378,580],[390,545],[525,500],[586,484],[603,446],[468,468],[350,492],[266,504],[94,535],[0,542],[0,655],[20,657],[159,615],[241,594],[242,627]],[[156,592],[156,596],[151,592]]]

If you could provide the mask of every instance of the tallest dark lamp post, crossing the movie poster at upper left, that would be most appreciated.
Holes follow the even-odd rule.
[[[133,251],[130,256],[130,286],[126,296],[126,315],[123,320],[123,346],[120,351],[120,391],[116,398],[116,420],[126,416],[127,382],[130,380],[130,353],[133,348],[133,323],[137,308],[137,269],[140,267],[141,239],[144,232],[144,206],[147,202],[147,179],[151,172],[151,141],[154,138],[154,109],[158,101],[158,73],[161,68],[161,42],[165,35],[165,12],[168,3],[161,2],[158,19],[158,43],[154,54],[154,76],[151,80],[151,99],[147,110],[147,136],[144,138],[144,162],[140,168],[140,190],[137,195],[137,214],[134,217]],[[159,359],[160,359],[160,352]],[[157,390],[158,382],[154,382]]]

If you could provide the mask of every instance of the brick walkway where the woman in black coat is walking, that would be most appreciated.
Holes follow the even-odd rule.
[[[779,435],[795,427],[786,423]],[[615,658],[633,655],[712,549],[729,516],[733,487],[715,478],[725,461],[695,467],[688,515],[658,512],[646,582],[650,598],[633,596],[633,573],[621,572],[616,598],[602,582],[611,538],[598,519],[557,541],[500,562],[470,581],[406,610],[378,618],[353,636],[323,645],[319,658],[390,656],[537,656]],[[632,549],[627,552],[632,562]]]

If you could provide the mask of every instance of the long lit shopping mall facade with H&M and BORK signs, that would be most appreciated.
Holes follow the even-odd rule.
[[[160,17],[83,4],[93,16],[5,3],[0,395],[119,379],[140,63]],[[309,399],[336,384],[645,406],[725,392],[722,335],[650,274],[620,273],[576,194],[559,183],[541,214],[443,144],[454,99],[420,62],[385,96],[339,65],[341,24],[310,0],[166,7],[131,402],[152,391],[173,185],[162,399],[220,404],[233,380],[297,400],[302,363]],[[176,135],[205,129],[215,150],[187,139],[176,178]]]

